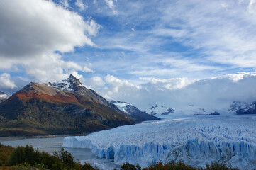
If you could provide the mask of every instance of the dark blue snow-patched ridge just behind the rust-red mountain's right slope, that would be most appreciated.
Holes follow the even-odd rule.
[[[140,111],[136,106],[131,105],[130,103],[123,101],[111,101],[111,103],[115,104],[121,111],[129,115],[131,118],[135,118],[140,121],[144,120],[159,120],[153,115],[149,115],[146,112]]]

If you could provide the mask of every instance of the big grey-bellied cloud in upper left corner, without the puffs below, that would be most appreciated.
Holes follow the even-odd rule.
[[[0,3],[0,57],[30,57],[52,51],[72,52],[75,46],[94,45],[84,35],[88,26],[82,16],[56,6],[52,1],[16,0]]]

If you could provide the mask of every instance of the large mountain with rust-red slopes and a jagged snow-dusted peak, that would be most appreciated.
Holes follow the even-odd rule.
[[[142,114],[121,111],[70,75],[57,83],[31,82],[0,103],[0,136],[79,134],[156,119]]]

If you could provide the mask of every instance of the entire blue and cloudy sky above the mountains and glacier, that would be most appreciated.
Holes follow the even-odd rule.
[[[73,74],[138,104],[216,77],[238,84],[255,76],[255,28],[256,0],[1,0],[0,91]]]

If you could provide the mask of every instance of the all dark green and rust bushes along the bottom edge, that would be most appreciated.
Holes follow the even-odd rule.
[[[72,154],[65,149],[60,152],[54,152],[53,155],[47,152],[39,152],[34,150],[32,146],[13,148],[0,143],[0,166],[11,166],[13,170],[31,169],[51,169],[51,170],[99,170],[90,164],[80,164],[74,162]],[[1,169],[1,167],[0,167]],[[121,170],[237,170],[231,167],[217,163],[206,164],[206,167],[196,168],[184,164],[183,162],[167,162],[163,164],[159,162],[150,165],[148,168],[142,169],[140,166],[132,164],[123,164]]]

